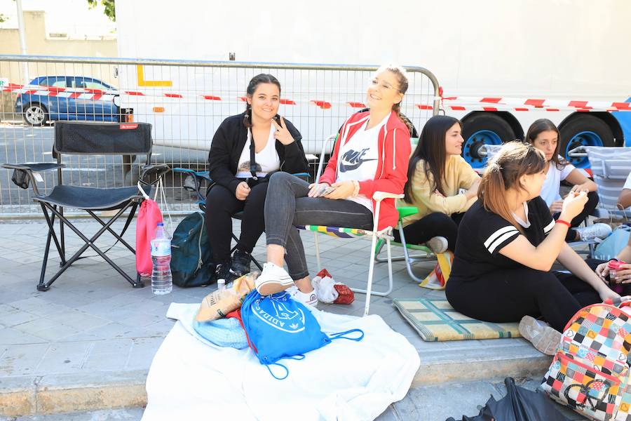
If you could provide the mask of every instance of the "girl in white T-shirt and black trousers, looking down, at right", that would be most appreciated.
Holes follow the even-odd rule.
[[[531,124],[526,134],[526,141],[539,149],[545,155],[545,173],[547,174],[541,198],[550,209],[552,218],[557,220],[563,206],[560,188],[565,180],[573,187],[571,192],[585,192],[588,194],[588,203],[583,211],[571,220],[571,229],[568,230],[565,241],[589,241],[595,238],[604,238],[611,233],[611,227],[606,224],[594,224],[589,227],[577,228],[585,218],[592,213],[598,204],[596,183],[585,176],[582,171],[559,156],[559,139],[561,134],[555,123],[548,119],[538,119]]]

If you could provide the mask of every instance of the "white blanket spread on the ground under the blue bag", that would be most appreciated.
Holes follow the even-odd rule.
[[[170,305],[178,319],[147,376],[142,421],[374,420],[405,397],[420,365],[416,349],[381,317],[314,310],[323,332],[364,331],[360,342],[334,340],[276,380],[251,349],[217,347],[192,328],[198,305]],[[272,368],[273,369],[273,368]]]

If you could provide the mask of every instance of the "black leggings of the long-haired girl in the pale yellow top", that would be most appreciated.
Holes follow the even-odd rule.
[[[444,236],[447,239],[449,250],[456,250],[456,235],[458,225],[464,213],[454,213],[451,217],[445,213],[435,212],[423,216],[423,218],[403,227],[405,242],[408,244],[423,244],[435,236]],[[393,233],[395,241],[401,241],[399,230]]]

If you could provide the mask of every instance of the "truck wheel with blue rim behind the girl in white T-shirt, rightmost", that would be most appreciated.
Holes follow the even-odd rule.
[[[582,115],[571,119],[560,130],[559,153],[576,168],[589,168],[587,156],[569,156],[567,153],[579,146],[614,146],[611,128],[601,119]]]

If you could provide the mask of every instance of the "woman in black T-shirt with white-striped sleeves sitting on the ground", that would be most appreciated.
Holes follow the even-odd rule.
[[[467,316],[520,321],[522,336],[553,355],[579,309],[619,295],[565,242],[587,194],[571,192],[555,221],[539,196],[545,169],[543,153],[522,142],[507,143],[491,159],[461,221],[445,292]],[[571,273],[552,272],[556,260]]]

